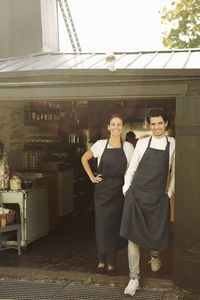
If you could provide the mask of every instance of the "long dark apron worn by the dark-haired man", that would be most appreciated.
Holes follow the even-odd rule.
[[[120,235],[149,250],[168,247],[170,202],[165,193],[169,170],[169,141],[165,150],[148,147],[125,197]]]

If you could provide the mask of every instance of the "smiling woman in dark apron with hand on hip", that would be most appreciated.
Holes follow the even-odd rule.
[[[83,156],[82,164],[90,180],[95,183],[95,230],[98,249],[97,274],[116,276],[114,267],[117,250],[127,241],[119,236],[124,196],[122,186],[124,174],[133,154],[133,145],[123,142],[124,128],[119,115],[112,115],[108,121],[108,140],[98,140]],[[98,174],[95,176],[89,160],[98,159]],[[106,255],[108,269],[106,270]]]

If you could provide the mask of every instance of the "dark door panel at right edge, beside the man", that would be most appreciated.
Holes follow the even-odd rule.
[[[173,279],[200,291],[200,97],[176,101]]]

